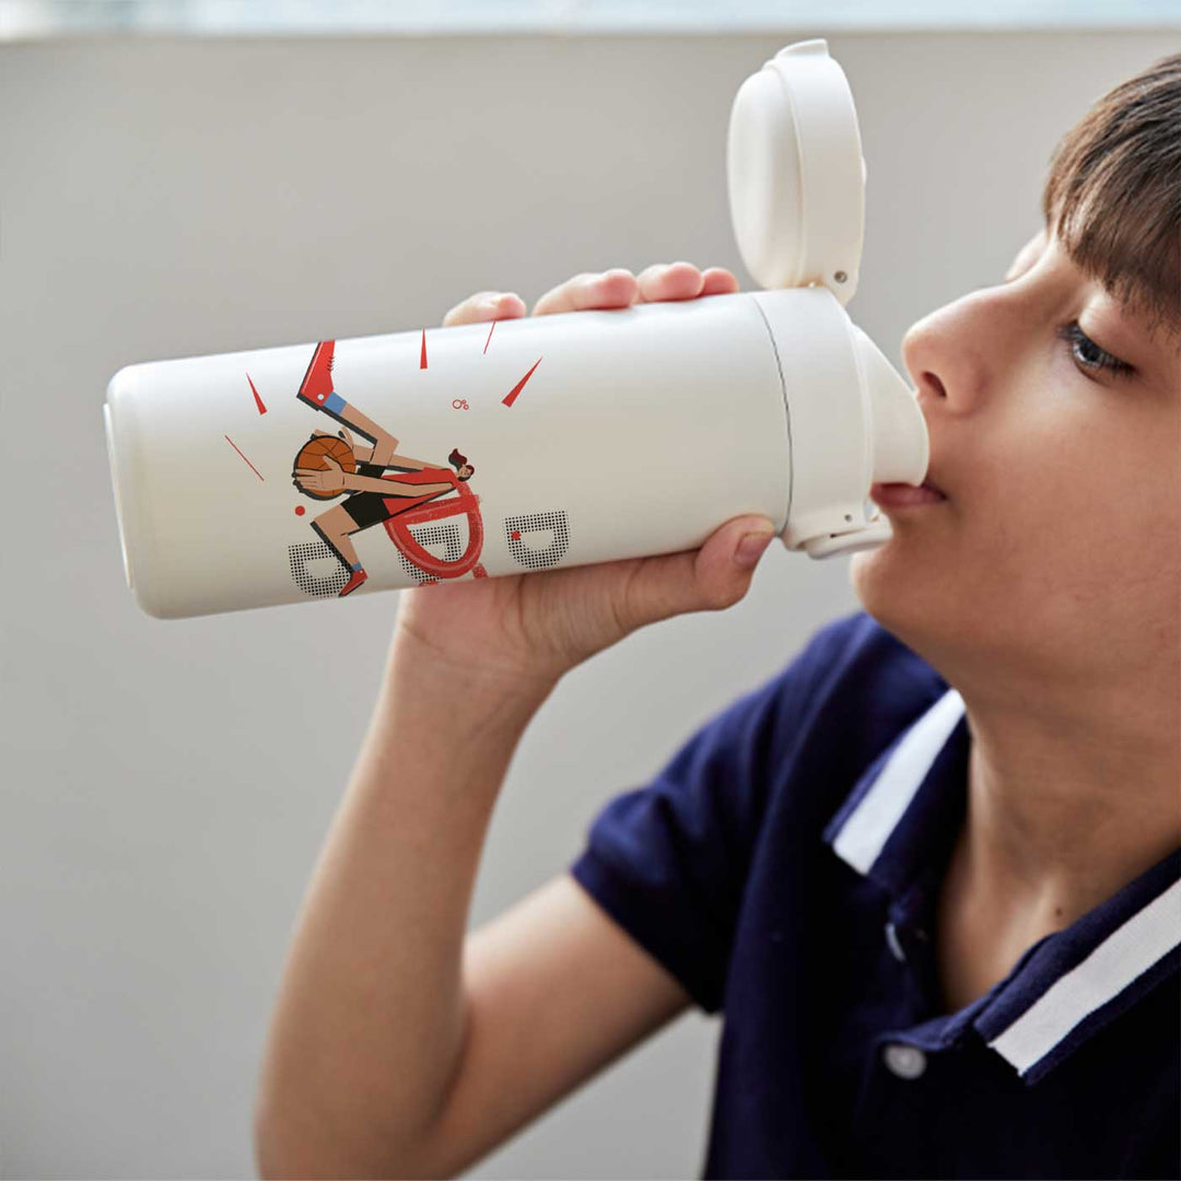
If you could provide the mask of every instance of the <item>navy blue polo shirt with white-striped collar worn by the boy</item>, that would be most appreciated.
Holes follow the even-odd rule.
[[[704,1176],[1181,1175],[1181,849],[941,1011],[970,740],[856,612],[593,821],[575,880],[724,1011]]]

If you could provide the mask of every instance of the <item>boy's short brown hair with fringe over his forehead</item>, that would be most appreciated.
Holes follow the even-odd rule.
[[[1181,337],[1181,53],[1098,99],[1058,142],[1046,227],[1121,307]]]

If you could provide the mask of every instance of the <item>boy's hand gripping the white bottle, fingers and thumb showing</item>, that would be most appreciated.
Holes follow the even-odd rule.
[[[689,262],[658,263],[639,275],[615,268],[559,283],[537,300],[533,314],[737,291],[737,279],[722,267],[700,272]],[[452,307],[443,326],[523,314],[524,301],[515,293],[477,292]],[[746,594],[758,555],[740,565],[735,552],[742,537],[759,531],[769,540],[771,522],[748,515],[725,522],[699,549],[406,589],[391,651],[399,660],[442,663],[465,680],[553,684],[638,627],[736,603]]]

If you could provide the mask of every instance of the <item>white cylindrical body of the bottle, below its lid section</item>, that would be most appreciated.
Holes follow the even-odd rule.
[[[673,553],[742,514],[770,517],[798,544],[788,394],[764,309],[790,318],[820,301],[847,321],[827,292],[796,288],[335,341],[331,385],[344,403],[331,404],[355,407],[399,455],[455,484],[353,527],[367,581],[352,594]],[[149,614],[339,596],[350,568],[313,523],[348,497],[301,491],[294,459],[312,431],[335,435],[341,422],[357,444],[374,441],[348,409],[296,396],[315,347],[132,365],[111,379],[125,570]],[[864,466],[867,423],[849,425],[846,436],[833,423],[823,445]],[[454,450],[470,479],[452,478]]]

